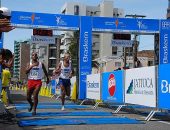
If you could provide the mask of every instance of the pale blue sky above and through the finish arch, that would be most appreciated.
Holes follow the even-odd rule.
[[[12,11],[60,14],[65,2],[81,2],[86,5],[98,6],[102,0],[0,0],[2,7]],[[126,14],[145,15],[149,19],[166,19],[168,0],[110,0],[114,8],[124,9]],[[13,51],[14,40],[26,40],[32,35],[31,29],[14,29],[5,33],[4,48]],[[140,36],[139,50],[153,49],[153,36]]]

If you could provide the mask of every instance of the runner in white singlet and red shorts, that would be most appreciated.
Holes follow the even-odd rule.
[[[28,90],[27,90],[27,101],[30,104],[30,108],[28,109],[29,112],[32,111],[32,115],[36,115],[36,108],[38,105],[38,94],[42,86],[42,77],[43,71],[47,78],[47,84],[49,83],[49,78],[47,74],[47,70],[45,65],[42,62],[38,61],[37,53],[33,52],[32,56],[32,63],[27,65],[26,74],[28,74]],[[34,98],[34,102],[32,102],[32,95]]]

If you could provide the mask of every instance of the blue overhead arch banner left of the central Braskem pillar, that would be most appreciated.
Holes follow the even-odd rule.
[[[79,29],[79,16],[74,15],[12,11],[11,16],[11,24],[14,27]]]

